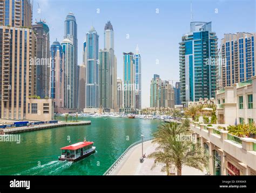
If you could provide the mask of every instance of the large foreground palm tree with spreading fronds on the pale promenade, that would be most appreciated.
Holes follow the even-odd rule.
[[[184,166],[193,167],[201,171],[208,164],[209,157],[204,154],[200,145],[195,145],[192,140],[183,141],[177,138],[180,134],[188,134],[187,128],[177,123],[163,124],[158,127],[158,131],[153,134],[153,143],[159,146],[156,152],[148,157],[154,158],[153,169],[157,163],[164,163],[161,171],[166,171],[170,175],[170,169],[177,170],[177,175],[181,175]]]

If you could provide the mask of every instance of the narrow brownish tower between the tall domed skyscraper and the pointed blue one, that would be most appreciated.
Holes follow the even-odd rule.
[[[85,109],[85,96],[86,96],[86,67],[85,65],[78,66],[79,68],[79,87],[78,87],[78,110]]]

